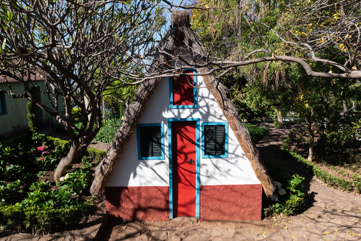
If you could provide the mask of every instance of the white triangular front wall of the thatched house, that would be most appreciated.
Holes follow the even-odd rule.
[[[197,85],[197,109],[170,109],[169,78],[160,81],[138,123],[164,123],[165,160],[138,160],[135,130],[106,186],[169,186],[168,118],[200,118],[200,124],[227,122],[202,76],[197,76]],[[228,130],[228,158],[200,158],[200,184],[260,184],[230,126]]]

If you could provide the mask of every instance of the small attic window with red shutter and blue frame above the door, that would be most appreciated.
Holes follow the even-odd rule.
[[[196,73],[196,69],[187,69],[182,73]],[[169,78],[170,108],[197,108],[197,76],[181,75]]]

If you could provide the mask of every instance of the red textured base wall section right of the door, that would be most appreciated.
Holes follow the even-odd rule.
[[[200,220],[261,220],[262,185],[210,185],[200,189]]]

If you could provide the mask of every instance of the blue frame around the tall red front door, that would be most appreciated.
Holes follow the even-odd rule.
[[[172,122],[173,121],[195,121],[196,122],[196,216],[200,218],[200,138],[199,118],[168,119],[168,148],[169,148],[169,205],[170,219],[173,219],[173,158],[172,158]]]

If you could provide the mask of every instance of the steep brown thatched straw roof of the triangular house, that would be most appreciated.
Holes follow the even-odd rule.
[[[176,47],[184,46],[190,54],[191,61],[202,63],[206,56],[205,49],[197,39],[195,33],[190,28],[188,11],[174,12],[171,15],[171,29],[167,32],[164,39],[161,40],[158,49],[166,53],[174,53]],[[157,52],[150,73],[168,69],[171,58],[168,54]],[[201,73],[209,70],[205,67],[198,69]],[[214,75],[204,76],[205,83],[210,89],[212,95],[216,98],[219,107],[222,109],[230,127],[234,131],[245,156],[251,162],[252,168],[257,178],[261,181],[262,187],[267,196],[274,192],[274,182],[260,159],[260,155],[255,145],[252,143],[251,136],[247,128],[242,124],[232,101],[228,98],[229,93],[223,84],[218,83]],[[95,197],[104,195],[105,185],[117,165],[117,162],[123,154],[124,148],[130,139],[131,133],[136,128],[143,110],[145,109],[149,98],[152,96],[160,79],[153,79],[143,82],[136,91],[135,100],[131,102],[124,114],[124,120],[116,132],[113,143],[109,146],[105,157],[96,168],[94,181],[90,192]]]

